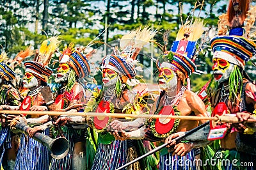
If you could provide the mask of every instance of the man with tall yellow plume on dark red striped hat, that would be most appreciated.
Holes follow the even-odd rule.
[[[47,86],[47,80],[52,71],[47,67],[51,55],[60,44],[58,37],[51,37],[45,40],[39,50],[39,54],[35,56],[35,61],[26,61],[24,75],[24,88],[28,88],[28,96],[20,105],[20,111],[47,111],[40,90]],[[39,115],[27,116],[27,122],[38,118]],[[49,116],[47,116],[49,118]],[[29,119],[30,118],[30,119]],[[49,128],[42,132],[49,135]],[[34,139],[21,134],[20,148],[15,162],[15,169],[49,169],[50,151],[41,143]]]

